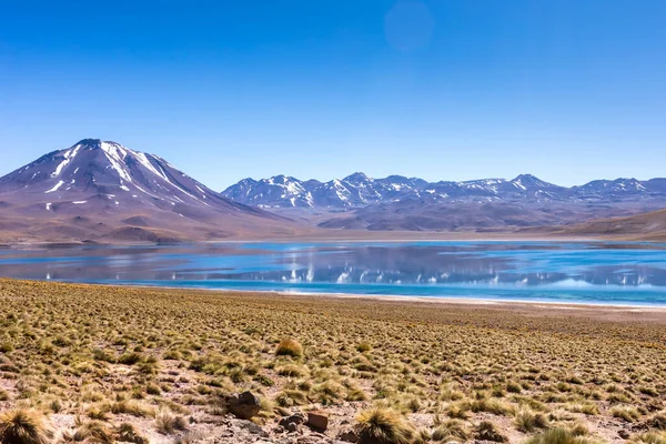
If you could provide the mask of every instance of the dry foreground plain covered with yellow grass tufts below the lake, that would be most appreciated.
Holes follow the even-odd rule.
[[[0,280],[0,441],[666,443],[665,341],[657,310]]]

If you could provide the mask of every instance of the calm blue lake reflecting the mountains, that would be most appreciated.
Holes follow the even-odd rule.
[[[666,305],[666,244],[223,243],[0,250],[0,275],[302,293]]]

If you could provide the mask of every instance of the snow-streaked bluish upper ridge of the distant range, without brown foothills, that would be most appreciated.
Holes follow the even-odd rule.
[[[427,182],[402,175],[372,179],[364,173],[329,182],[275,175],[262,180],[244,179],[229,186],[222,195],[265,209],[349,209],[410,199],[423,199],[433,203],[616,203],[655,199],[666,202],[666,179],[596,180],[581,186],[566,188],[532,174],[522,174],[512,180],[481,179],[463,182]]]

